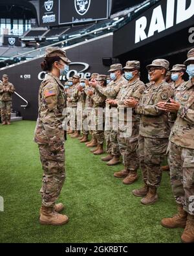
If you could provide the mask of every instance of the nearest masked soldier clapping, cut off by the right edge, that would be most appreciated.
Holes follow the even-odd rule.
[[[158,107],[170,111],[175,124],[169,137],[171,186],[178,213],[164,218],[162,226],[184,227],[182,242],[194,242],[194,49],[188,52],[189,81],[177,88],[174,100]]]

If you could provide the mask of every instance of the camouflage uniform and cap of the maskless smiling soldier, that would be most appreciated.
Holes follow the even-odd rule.
[[[150,66],[163,67],[162,60],[155,60]],[[164,65],[167,65],[166,63]],[[169,65],[169,64],[168,64]],[[168,67],[166,67],[167,69]],[[140,137],[138,153],[144,183],[151,187],[158,187],[162,178],[160,165],[164,159],[170,133],[168,116],[158,110],[158,102],[166,102],[172,95],[171,87],[162,82],[147,87],[136,106],[136,113],[140,114]]]

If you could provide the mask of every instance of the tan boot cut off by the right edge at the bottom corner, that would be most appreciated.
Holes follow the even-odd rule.
[[[184,243],[194,242],[194,215],[188,214],[186,227],[182,233],[181,240]]]

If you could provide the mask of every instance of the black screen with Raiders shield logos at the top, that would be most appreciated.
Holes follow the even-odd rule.
[[[109,0],[40,0],[40,25],[56,26],[107,19]]]

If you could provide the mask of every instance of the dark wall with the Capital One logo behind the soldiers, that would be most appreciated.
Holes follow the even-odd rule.
[[[113,36],[109,34],[67,49],[67,56],[72,61],[67,76],[79,73],[81,77],[87,78],[91,73],[107,74],[109,67],[103,65],[102,58],[112,57],[112,45]],[[38,116],[38,89],[45,76],[40,66],[42,60],[37,58],[0,70],[0,79],[3,74],[7,74],[16,92],[28,101],[29,105],[24,109],[21,105],[25,102],[14,94],[13,110],[19,111],[25,120],[36,120]],[[61,79],[64,84],[65,77]]]

